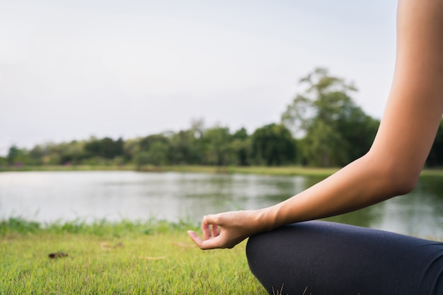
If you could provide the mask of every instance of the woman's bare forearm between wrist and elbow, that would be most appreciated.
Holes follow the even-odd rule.
[[[284,224],[351,212],[403,195],[415,185],[413,179],[405,181],[404,175],[379,162],[367,154],[294,197],[259,210],[259,226],[271,230]]]

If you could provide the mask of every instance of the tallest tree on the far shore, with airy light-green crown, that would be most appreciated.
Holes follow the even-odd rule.
[[[379,122],[350,97],[352,83],[317,68],[299,83],[306,86],[282,114],[282,123],[300,137],[303,163],[344,166],[369,150]]]

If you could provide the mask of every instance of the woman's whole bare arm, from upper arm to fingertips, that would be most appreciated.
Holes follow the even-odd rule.
[[[284,202],[203,217],[201,249],[232,248],[284,224],[361,209],[415,187],[443,114],[443,0],[400,0],[391,92],[367,154]]]

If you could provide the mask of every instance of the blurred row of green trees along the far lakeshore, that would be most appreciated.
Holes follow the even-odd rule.
[[[297,93],[281,121],[251,134],[224,126],[205,127],[194,120],[188,129],[136,139],[98,139],[11,146],[0,166],[125,165],[143,166],[345,166],[365,154],[379,120],[352,99],[357,88],[317,68],[299,80]],[[443,166],[443,120],[427,166]]]

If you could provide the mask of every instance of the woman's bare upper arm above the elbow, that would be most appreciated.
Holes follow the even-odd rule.
[[[443,0],[400,0],[396,69],[369,151],[401,185],[415,185],[443,113]]]

